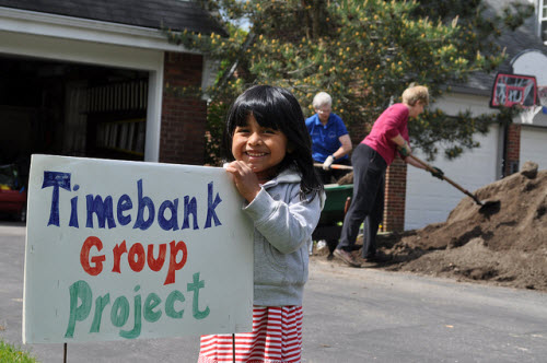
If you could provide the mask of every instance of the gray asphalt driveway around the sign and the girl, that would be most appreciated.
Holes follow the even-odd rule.
[[[22,344],[24,226],[0,222],[0,338]],[[547,294],[313,258],[303,362],[546,362]],[[62,344],[30,344],[62,362]],[[198,337],[68,344],[68,362],[196,362]]]

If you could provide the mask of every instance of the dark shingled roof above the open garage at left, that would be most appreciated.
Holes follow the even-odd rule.
[[[195,1],[184,0],[0,0],[0,7],[173,31],[225,34]]]

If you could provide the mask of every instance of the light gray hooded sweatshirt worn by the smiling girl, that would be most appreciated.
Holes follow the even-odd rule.
[[[325,195],[300,200],[300,182],[296,171],[287,168],[243,208],[255,225],[254,305],[302,305],[309,246]]]

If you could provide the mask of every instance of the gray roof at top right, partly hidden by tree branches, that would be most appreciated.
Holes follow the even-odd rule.
[[[526,0],[520,0],[523,3],[528,3]],[[488,9],[485,12],[486,16],[492,16],[494,14],[501,14],[502,9],[510,2],[509,0],[486,0],[485,1]],[[543,44],[539,37],[534,33],[536,17],[532,15],[526,19],[524,24],[521,25],[515,31],[504,31],[501,36],[497,39],[497,44],[501,48],[505,49],[507,59],[500,66],[498,71],[500,72],[512,72],[512,67],[510,65],[511,60],[527,49],[537,49],[543,54],[547,55],[547,47]],[[493,80],[496,73],[485,73],[475,72],[469,75],[468,81],[465,84],[459,84],[453,86],[452,89],[456,92],[470,93],[470,94],[490,94],[492,90]]]

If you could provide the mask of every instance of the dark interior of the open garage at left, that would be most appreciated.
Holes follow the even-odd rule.
[[[32,154],[142,161],[146,71],[0,56],[0,165]]]

